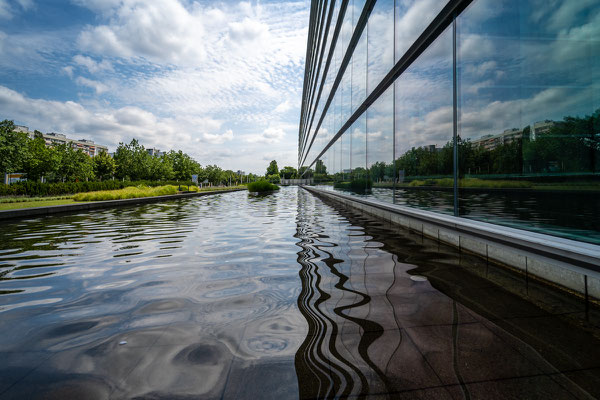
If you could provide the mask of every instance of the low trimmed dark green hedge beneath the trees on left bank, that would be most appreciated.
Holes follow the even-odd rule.
[[[177,181],[104,181],[104,182],[17,182],[10,185],[0,184],[0,196],[57,196],[97,190],[123,189],[128,186],[192,185],[192,182]]]

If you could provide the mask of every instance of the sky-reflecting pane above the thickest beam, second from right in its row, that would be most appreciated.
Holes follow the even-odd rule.
[[[368,23],[367,95],[394,66],[394,0],[375,4]]]

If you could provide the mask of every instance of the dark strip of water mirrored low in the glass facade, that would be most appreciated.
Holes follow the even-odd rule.
[[[322,185],[321,189],[333,190]],[[388,203],[454,214],[451,190],[373,188],[368,195]],[[600,244],[600,201],[597,191],[523,191],[459,189],[461,217]]]

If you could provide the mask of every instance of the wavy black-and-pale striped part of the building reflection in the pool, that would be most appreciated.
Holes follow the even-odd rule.
[[[395,257],[353,225],[309,215],[299,200],[298,307],[309,325],[296,353],[300,398],[390,392],[386,369],[402,342],[386,297],[398,282]]]

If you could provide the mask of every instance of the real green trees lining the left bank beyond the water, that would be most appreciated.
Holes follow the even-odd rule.
[[[202,167],[186,153],[169,151],[150,155],[136,139],[119,143],[114,156],[101,152],[90,157],[69,144],[46,146],[41,132],[33,138],[16,132],[13,121],[0,122],[0,174],[25,173],[27,180],[47,182],[83,182],[118,179],[121,181],[190,181],[198,175],[199,182],[213,185],[238,184],[242,177],[217,165]],[[255,180],[250,174],[244,181]]]

